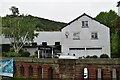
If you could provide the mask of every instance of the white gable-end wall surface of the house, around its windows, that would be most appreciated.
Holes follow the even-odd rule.
[[[82,28],[81,21],[88,21],[89,28]],[[65,32],[69,32],[69,37],[65,37]],[[80,40],[73,40],[73,32],[80,32]],[[91,40],[91,32],[98,32],[98,40]],[[99,22],[87,17],[82,16],[77,21],[71,23],[62,29],[62,52],[63,54],[70,53],[69,48],[102,48],[102,52],[96,52],[94,55],[100,56],[101,54],[108,54],[110,56],[110,33],[109,28],[100,24]],[[82,56],[89,55],[85,52]],[[81,56],[78,54],[77,56]]]

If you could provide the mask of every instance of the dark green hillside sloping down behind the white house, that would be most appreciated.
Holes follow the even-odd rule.
[[[6,15],[5,17],[2,17],[3,27],[7,24],[7,22],[9,21],[10,18],[14,18],[14,17],[15,16],[13,16],[13,15]],[[38,22],[38,25],[36,26],[36,30],[38,30],[38,31],[59,31],[61,28],[63,28],[66,25],[66,23],[63,23],[63,22],[48,20],[48,19],[44,19],[44,18],[40,18],[40,17],[35,17],[32,15],[27,15],[27,16],[20,15],[19,17],[20,18],[30,17],[30,19],[37,18],[39,20],[39,22]]]

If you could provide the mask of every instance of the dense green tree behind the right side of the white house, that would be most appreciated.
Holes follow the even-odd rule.
[[[116,21],[118,15],[115,11],[110,10],[109,12],[101,12],[96,16],[96,20],[107,25],[110,28],[110,41],[111,41],[111,54],[117,54],[118,52],[118,36],[116,30]]]

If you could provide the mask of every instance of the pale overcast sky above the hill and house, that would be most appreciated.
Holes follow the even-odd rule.
[[[11,14],[9,8],[16,6],[20,14],[30,14],[60,22],[70,22],[86,13],[91,17],[110,9],[117,12],[119,0],[0,0],[0,16]]]

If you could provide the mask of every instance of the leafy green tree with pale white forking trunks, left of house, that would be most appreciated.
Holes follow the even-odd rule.
[[[37,18],[18,16],[18,12],[14,11],[13,15],[7,15],[2,19],[2,33],[8,36],[16,53],[19,53],[25,43],[32,42],[34,37],[37,36],[34,30],[39,23]]]

